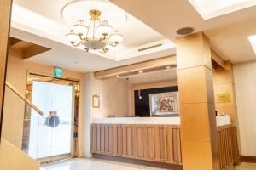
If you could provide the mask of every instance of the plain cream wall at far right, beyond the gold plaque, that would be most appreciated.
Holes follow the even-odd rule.
[[[242,156],[256,156],[256,61],[234,65]]]

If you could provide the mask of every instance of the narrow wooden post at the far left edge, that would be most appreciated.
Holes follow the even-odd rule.
[[[12,0],[0,0],[0,139]]]

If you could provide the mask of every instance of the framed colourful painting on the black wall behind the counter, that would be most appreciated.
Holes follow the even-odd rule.
[[[179,115],[178,93],[149,94],[150,116]]]

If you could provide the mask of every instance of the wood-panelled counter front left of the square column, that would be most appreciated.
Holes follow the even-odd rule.
[[[92,124],[91,153],[181,165],[179,127]]]

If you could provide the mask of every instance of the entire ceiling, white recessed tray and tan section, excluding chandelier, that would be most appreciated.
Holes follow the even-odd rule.
[[[71,1],[14,0],[15,8],[18,10],[15,11],[13,8],[11,35],[53,48],[29,60],[81,72],[129,65],[175,54],[172,42],[175,42],[178,36],[177,29],[184,26],[192,26],[195,31],[204,31],[210,39],[212,48],[224,59],[233,63],[256,59],[256,54],[247,40],[247,36],[256,34],[255,6],[236,8],[241,10],[204,20],[188,0],[111,0],[129,13],[128,21],[121,28],[125,36],[124,42],[108,54],[86,54],[83,50],[71,47],[64,37],[69,28],[61,18],[61,8]],[[212,2],[204,1],[208,5]],[[30,15],[30,20],[23,14],[26,12]],[[137,52],[138,48],[157,43],[164,45],[142,53]]]

